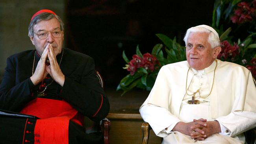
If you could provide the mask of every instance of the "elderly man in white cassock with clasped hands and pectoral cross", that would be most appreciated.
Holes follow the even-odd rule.
[[[165,65],[139,111],[162,144],[243,144],[256,127],[256,87],[250,71],[220,61],[218,33],[189,28],[187,61]]]

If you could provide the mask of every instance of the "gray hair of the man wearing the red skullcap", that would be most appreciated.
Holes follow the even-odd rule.
[[[52,18],[56,18],[59,21],[60,30],[63,31],[64,30],[64,24],[63,24],[61,18],[58,15],[54,15],[52,13],[40,13],[39,15],[35,16],[31,20],[31,22],[30,22],[30,24],[28,26],[28,36],[29,37],[34,37],[34,29],[33,29],[33,27],[35,26],[35,24],[37,24],[41,20],[50,20]]]

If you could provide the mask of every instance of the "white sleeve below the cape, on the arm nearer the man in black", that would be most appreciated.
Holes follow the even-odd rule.
[[[154,133],[159,137],[166,137],[180,120],[167,109],[156,105],[143,105],[139,112],[145,122],[148,122]]]

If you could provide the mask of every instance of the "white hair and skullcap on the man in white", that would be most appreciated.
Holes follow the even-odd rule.
[[[215,33],[213,33],[213,31],[210,31],[207,28],[198,27],[198,26],[187,29],[186,35],[183,39],[183,41],[185,42],[186,45],[187,45],[187,38],[188,38],[189,34],[192,33],[192,32],[201,32],[201,33],[206,32],[206,33],[209,33],[208,42],[211,44],[211,48],[215,48],[217,46],[220,46],[219,35],[216,35]]]

